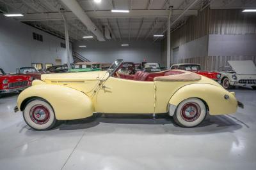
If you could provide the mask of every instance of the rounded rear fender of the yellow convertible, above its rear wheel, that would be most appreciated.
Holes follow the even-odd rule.
[[[225,95],[226,98],[225,99]],[[179,103],[185,99],[196,97],[205,102],[209,108],[210,115],[223,115],[228,113],[236,113],[237,100],[234,92],[228,92],[222,87],[211,85],[207,83],[195,83],[181,87],[173,94],[169,104],[173,108],[177,107]],[[172,115],[172,113],[170,113]]]

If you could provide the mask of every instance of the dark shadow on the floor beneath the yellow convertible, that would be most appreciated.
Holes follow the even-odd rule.
[[[237,129],[244,127],[243,122],[239,121],[235,117],[228,117],[226,115],[208,116],[204,122],[202,122],[202,124],[192,128],[184,128],[175,124],[173,118],[166,114],[157,115],[156,119],[152,118],[152,115],[96,114],[90,118],[60,122],[60,124],[57,125],[54,129],[58,129],[60,131],[90,129],[92,127],[97,127],[97,125],[102,123],[118,124],[116,128],[123,127],[129,130],[132,129],[132,131],[141,131],[141,126],[138,125],[161,125],[156,127],[161,128],[161,130],[157,132],[167,134],[205,134],[209,132],[234,132]],[[153,126],[150,127],[154,128]],[[245,127],[249,128],[248,126]],[[97,131],[100,132],[100,128],[97,128]],[[102,132],[104,132],[104,130],[102,130]],[[150,132],[150,130],[148,130],[148,126],[145,126],[144,132]]]

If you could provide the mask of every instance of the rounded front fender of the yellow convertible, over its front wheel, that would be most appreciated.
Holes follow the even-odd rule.
[[[93,103],[90,97],[69,87],[61,85],[33,85],[22,91],[17,99],[19,110],[23,111],[26,102],[33,98],[45,99],[51,104],[58,120],[73,120],[90,117],[93,114]]]

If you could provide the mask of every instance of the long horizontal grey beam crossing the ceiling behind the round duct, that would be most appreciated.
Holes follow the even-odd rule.
[[[180,15],[183,10],[173,10],[173,15]],[[77,17],[72,12],[64,12],[67,20],[74,20]],[[111,13],[111,11],[88,11],[86,15],[90,18],[167,18],[168,10],[133,10],[130,13]],[[197,15],[197,10],[188,10],[184,15]],[[20,21],[40,21],[40,20],[62,20],[60,13],[30,13],[22,18],[17,18]]]

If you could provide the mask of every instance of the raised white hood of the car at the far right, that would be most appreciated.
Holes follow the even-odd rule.
[[[228,64],[237,74],[256,74],[256,67],[252,60],[229,60]]]

